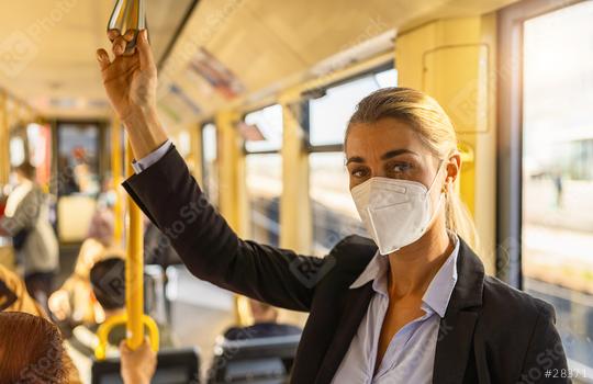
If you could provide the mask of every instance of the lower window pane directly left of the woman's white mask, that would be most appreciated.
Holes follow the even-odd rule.
[[[348,191],[348,171],[343,153],[318,153],[309,157],[313,251],[323,256],[344,237],[365,234]]]

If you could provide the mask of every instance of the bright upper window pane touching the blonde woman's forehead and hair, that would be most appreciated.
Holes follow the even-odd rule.
[[[323,98],[310,100],[310,145],[342,145],[346,124],[358,102],[380,88],[394,87],[396,81],[395,69],[381,70],[328,88]]]

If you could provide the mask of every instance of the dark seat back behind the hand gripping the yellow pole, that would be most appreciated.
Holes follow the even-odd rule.
[[[92,384],[123,384],[120,359],[93,361]],[[171,349],[158,352],[153,384],[199,384],[200,353],[195,348]]]

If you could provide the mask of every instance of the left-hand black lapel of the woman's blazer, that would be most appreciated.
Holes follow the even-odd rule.
[[[315,379],[315,384],[329,384],[346,355],[360,321],[367,314],[373,294],[372,281],[359,289],[349,290],[346,295],[342,318],[327,353]]]

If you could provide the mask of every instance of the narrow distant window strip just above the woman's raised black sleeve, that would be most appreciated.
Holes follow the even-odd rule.
[[[214,205],[219,204],[219,143],[216,126],[212,123],[202,126],[202,188]]]

